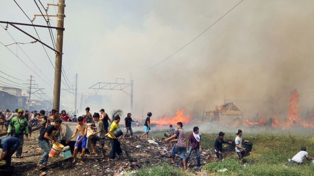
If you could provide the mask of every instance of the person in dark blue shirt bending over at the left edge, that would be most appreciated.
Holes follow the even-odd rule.
[[[16,152],[16,150],[20,147],[21,141],[16,137],[4,137],[0,139],[0,148],[2,149],[2,154],[0,157],[0,161],[3,159],[6,161],[6,165],[11,165],[11,156]]]

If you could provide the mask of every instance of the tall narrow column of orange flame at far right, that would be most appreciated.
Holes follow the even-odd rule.
[[[290,125],[299,125],[299,114],[301,108],[298,104],[299,94],[296,90],[293,90],[292,95],[290,97],[290,104],[288,106],[289,113],[289,124]]]

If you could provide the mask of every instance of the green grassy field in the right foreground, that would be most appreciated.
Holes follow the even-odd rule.
[[[162,132],[156,132],[155,138],[163,137]],[[150,136],[152,137],[152,136]],[[216,133],[202,134],[203,149],[212,149]],[[225,140],[234,140],[235,134],[226,133]],[[212,176],[313,176],[314,164],[310,165],[307,161],[301,166],[287,167],[288,158],[300,151],[302,146],[307,147],[309,156],[314,156],[314,135],[312,134],[291,134],[291,133],[257,133],[246,134],[243,139],[254,143],[251,155],[245,157],[243,164],[240,164],[237,155],[233,154],[226,157],[221,163],[210,162],[202,166],[203,171],[207,171]],[[229,146],[227,146],[228,148]],[[218,172],[221,169],[228,169],[226,172]],[[137,176],[183,176],[192,173],[173,168],[168,164],[154,168],[143,168],[137,172]]]

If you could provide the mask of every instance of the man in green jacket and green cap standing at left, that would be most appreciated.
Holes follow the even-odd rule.
[[[27,127],[27,120],[23,117],[24,110],[18,110],[18,116],[13,117],[10,124],[7,136],[11,134],[13,137],[17,137],[21,141],[20,147],[16,151],[16,157],[22,158],[22,151],[23,151],[23,144],[24,144],[24,136],[23,133],[25,132],[26,138],[28,137],[28,127]]]

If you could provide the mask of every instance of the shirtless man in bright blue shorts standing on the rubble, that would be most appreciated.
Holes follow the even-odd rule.
[[[78,132],[78,139],[77,142],[74,145],[74,160],[72,164],[77,162],[77,154],[78,154],[78,148],[82,149],[82,153],[80,154],[80,162],[83,163],[83,157],[85,154],[85,149],[86,149],[86,142],[87,142],[87,124],[83,123],[83,117],[79,116],[78,117],[78,125],[75,127],[75,132],[74,134],[66,141],[66,143],[69,143],[71,139],[73,139]]]

